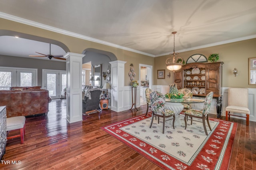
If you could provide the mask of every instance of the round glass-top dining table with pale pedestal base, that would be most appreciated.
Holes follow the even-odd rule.
[[[196,99],[196,98],[189,98],[189,99],[170,99],[167,98],[165,100],[165,108],[168,110],[172,110],[175,113],[175,122],[174,125],[181,125],[181,120],[178,119],[178,115],[184,109],[182,104],[194,104],[194,103],[204,103],[204,99]]]

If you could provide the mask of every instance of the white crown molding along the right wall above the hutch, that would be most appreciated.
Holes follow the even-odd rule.
[[[188,48],[188,49],[178,50],[178,51],[175,51],[175,52],[176,53],[182,53],[182,52],[185,52],[185,51],[192,51],[192,50],[202,49],[202,48],[206,48],[206,47],[213,47],[213,46],[216,46],[216,45],[223,45],[223,44],[228,44],[228,43],[234,43],[234,42],[237,42],[237,41],[243,41],[243,40],[253,39],[253,38],[256,38],[256,34],[249,35],[249,36],[246,36],[246,37],[230,39],[230,40],[226,40],[226,41],[220,41],[218,43],[206,44],[206,45],[201,45],[201,46],[192,47],[192,48]],[[170,52],[170,53],[172,53],[172,52]],[[160,55],[155,55],[155,57],[160,57],[160,56],[164,56],[164,55],[170,55],[170,53],[164,53],[164,54],[160,54]]]

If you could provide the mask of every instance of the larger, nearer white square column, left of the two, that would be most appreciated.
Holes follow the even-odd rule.
[[[66,53],[66,120],[69,123],[82,121],[82,58],[84,55]]]

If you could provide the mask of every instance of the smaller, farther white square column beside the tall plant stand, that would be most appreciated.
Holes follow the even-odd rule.
[[[121,111],[124,107],[124,64],[126,61],[111,61],[111,109]]]

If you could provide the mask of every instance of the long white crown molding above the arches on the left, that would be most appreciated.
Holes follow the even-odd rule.
[[[130,49],[130,48],[127,48],[127,47],[123,47],[121,45],[116,45],[116,44],[109,43],[109,42],[106,42],[106,41],[102,41],[102,40],[99,40],[99,39],[95,39],[95,38],[92,38],[92,37],[87,37],[87,36],[84,36],[84,35],[81,35],[81,34],[66,31],[64,29],[59,29],[59,28],[56,28],[56,27],[51,27],[49,25],[42,24],[42,23],[26,20],[24,18],[12,16],[12,15],[9,15],[9,14],[5,14],[3,12],[0,12],[0,18],[4,18],[6,20],[11,20],[11,21],[23,23],[23,24],[30,25],[30,26],[33,26],[33,27],[38,27],[38,28],[41,28],[41,29],[46,29],[48,31],[53,31],[53,32],[56,32],[56,33],[61,33],[63,35],[68,35],[68,36],[71,36],[71,37],[76,37],[76,38],[84,39],[84,40],[87,40],[87,41],[92,41],[92,42],[95,42],[95,43],[108,45],[108,46],[115,47],[115,48],[118,48],[118,49],[123,49],[123,50],[126,50],[126,51],[131,51],[131,52],[134,52],[134,53],[147,55],[147,56],[150,56],[150,57],[155,57],[155,55],[152,55],[152,54],[149,54],[149,53],[144,53],[142,51]]]

